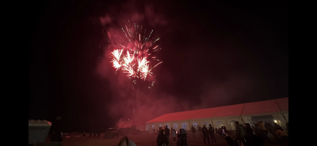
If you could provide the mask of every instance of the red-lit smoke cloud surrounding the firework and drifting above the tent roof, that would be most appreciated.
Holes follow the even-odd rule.
[[[177,98],[155,86],[155,83],[162,80],[165,83],[173,82],[173,76],[168,71],[162,70],[164,68],[162,66],[165,64],[164,60],[153,70],[153,76],[146,81],[137,78],[129,79],[121,70],[116,72],[112,63],[110,63],[110,52],[118,49],[115,45],[122,38],[126,38],[122,28],[125,30],[126,26],[129,25],[133,25],[132,28],[134,28],[134,23],[137,27],[142,25],[142,28],[146,28],[146,31],[153,29],[152,35],[156,38],[159,37],[159,33],[162,33],[155,31],[156,27],[164,27],[168,24],[168,21],[162,15],[156,14],[152,5],[143,5],[140,8],[140,5],[136,6],[135,3],[128,2],[113,10],[113,12],[100,16],[98,20],[104,32],[103,58],[105,60],[99,63],[97,73],[107,79],[111,85],[112,102],[108,105],[110,106],[110,115],[118,121],[116,123],[117,128],[144,124],[165,113],[238,104],[236,103],[237,99],[233,99],[233,97],[239,98],[252,90],[254,81],[248,76],[231,76],[216,86],[212,85],[214,83],[206,83],[205,88],[202,88],[204,90],[197,92],[197,97]],[[167,46],[162,46],[162,48],[164,47]],[[161,80],[155,78],[155,74],[158,73],[164,76],[160,78]],[[133,80],[136,82],[134,86]],[[151,85],[153,81],[154,86]],[[193,98],[198,102],[189,101]],[[134,120],[135,122],[131,122]]]

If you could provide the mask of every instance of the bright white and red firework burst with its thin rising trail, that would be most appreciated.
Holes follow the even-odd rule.
[[[126,73],[127,77],[131,78],[139,78],[142,80],[146,80],[148,76],[152,76],[152,69],[159,65],[162,62],[154,59],[153,56],[155,52],[161,48],[158,48],[159,45],[153,45],[160,38],[151,38],[152,31],[146,34],[146,29],[142,29],[142,25],[139,28],[138,25],[134,23],[131,27],[130,21],[129,26],[125,25],[125,29],[122,29],[122,32],[126,38],[118,38],[120,40],[116,44],[113,44],[116,49],[111,52],[111,63],[113,67],[118,71],[120,68],[123,73]],[[126,30],[126,31],[125,31]],[[114,37],[118,37],[120,35],[114,35]],[[148,37],[147,37],[148,36]],[[152,39],[154,39],[152,42]],[[153,64],[153,67],[152,65]],[[133,80],[133,89],[135,85],[135,81]],[[152,82],[152,86],[154,81]],[[129,94],[130,94],[130,87]],[[131,94],[130,94],[131,98]],[[134,99],[133,99],[133,90],[132,90],[132,103],[133,103],[133,114],[135,116],[134,110]]]

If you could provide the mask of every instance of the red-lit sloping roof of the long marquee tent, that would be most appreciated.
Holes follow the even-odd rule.
[[[256,116],[276,112],[281,113],[282,111],[288,111],[288,98],[169,113],[156,117],[146,123],[243,115]]]

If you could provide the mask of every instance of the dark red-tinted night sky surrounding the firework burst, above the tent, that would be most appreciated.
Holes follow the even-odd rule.
[[[136,92],[140,123],[164,113],[288,97],[285,1],[31,3],[29,119],[54,125],[61,116],[62,130],[82,132],[131,118],[130,97],[107,60],[109,26],[99,18],[149,9],[153,15],[143,24],[161,37],[163,63],[153,70],[153,89]]]

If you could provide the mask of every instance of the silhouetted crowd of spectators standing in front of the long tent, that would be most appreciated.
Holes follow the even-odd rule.
[[[269,140],[268,135],[273,135],[277,143],[280,143],[283,146],[288,146],[288,123],[286,126],[286,131],[283,130],[281,126],[276,123],[263,123],[262,121],[251,126],[249,123],[239,124],[239,122],[235,122],[234,126],[236,128],[235,140],[233,140],[227,133],[228,131],[223,131],[221,134],[221,128],[213,128],[211,124],[209,124],[209,128],[207,129],[207,125],[203,125],[203,128],[198,129],[198,134],[204,139],[204,143],[206,144],[206,139],[208,144],[211,143],[216,144],[215,133],[219,132],[219,135],[225,136],[225,140],[230,146],[263,146],[264,141]],[[199,126],[197,126],[199,127]],[[193,135],[195,137],[195,128],[191,128]],[[187,134],[185,129],[180,129],[179,132],[177,130],[171,128],[171,130],[166,125],[160,127],[159,135],[157,137],[157,145],[158,146],[168,146],[169,145],[169,137],[173,137],[173,143],[177,143],[177,146],[188,146],[187,144]],[[176,140],[177,134],[177,140]],[[122,142],[124,141],[124,142]],[[123,138],[119,144],[119,146],[135,146],[135,143],[130,141],[130,144],[126,144],[129,142],[127,137]]]

